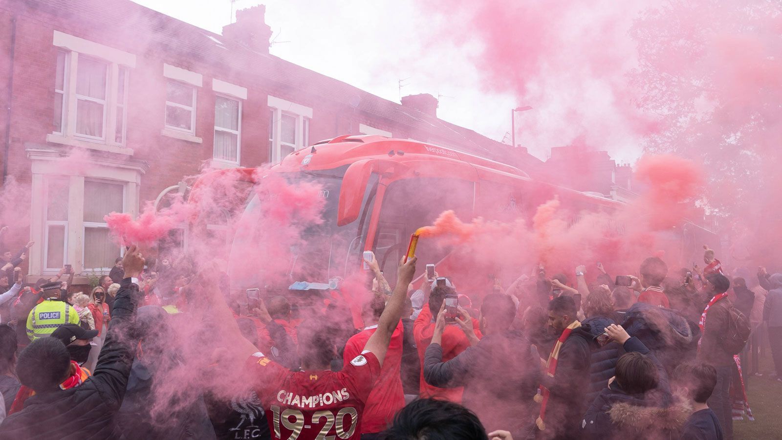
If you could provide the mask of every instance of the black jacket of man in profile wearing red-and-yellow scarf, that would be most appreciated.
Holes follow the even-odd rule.
[[[594,346],[590,326],[572,330],[559,350],[554,377],[543,375],[541,383],[549,390],[544,438],[580,438]]]

